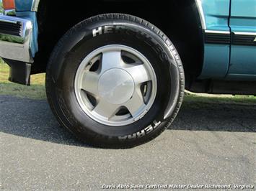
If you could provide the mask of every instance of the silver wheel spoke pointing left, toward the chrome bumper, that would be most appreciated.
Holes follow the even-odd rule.
[[[87,91],[88,93],[92,93],[93,95],[98,95],[98,80],[100,78],[99,74],[85,71],[83,75],[81,89]]]

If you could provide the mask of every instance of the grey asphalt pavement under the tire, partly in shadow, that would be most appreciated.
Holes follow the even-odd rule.
[[[195,101],[147,144],[97,149],[61,128],[47,101],[0,95],[0,190],[251,186],[255,131],[256,104]]]

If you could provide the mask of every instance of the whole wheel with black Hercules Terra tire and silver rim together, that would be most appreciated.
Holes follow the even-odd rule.
[[[111,60],[113,66],[106,64],[111,57],[107,54],[113,52],[121,52],[116,60],[121,54],[124,68],[116,68],[115,59]],[[138,66],[142,68],[138,76],[150,79],[143,88],[126,70]],[[105,67],[108,69],[103,70]],[[97,80],[91,83],[89,76],[95,73]],[[130,75],[132,80],[127,80]],[[46,93],[59,123],[81,141],[105,148],[130,148],[154,139],[172,124],[182,103],[184,78],[177,50],[153,24],[127,14],[101,14],[76,24],[58,42],[48,62]],[[116,81],[123,83],[115,86]],[[138,87],[141,92],[138,90],[136,98]],[[127,106],[118,105],[121,102]]]

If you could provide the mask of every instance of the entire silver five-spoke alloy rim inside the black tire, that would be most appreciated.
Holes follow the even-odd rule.
[[[81,109],[107,126],[125,126],[142,118],[154,103],[156,86],[149,60],[123,45],[91,52],[79,65],[74,81]]]

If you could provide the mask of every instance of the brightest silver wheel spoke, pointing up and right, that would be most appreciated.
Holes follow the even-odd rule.
[[[149,78],[149,74],[147,73],[144,65],[136,65],[133,67],[128,67],[128,68],[125,68],[125,70],[127,70],[128,73],[131,74],[135,84],[141,84],[151,80]]]

